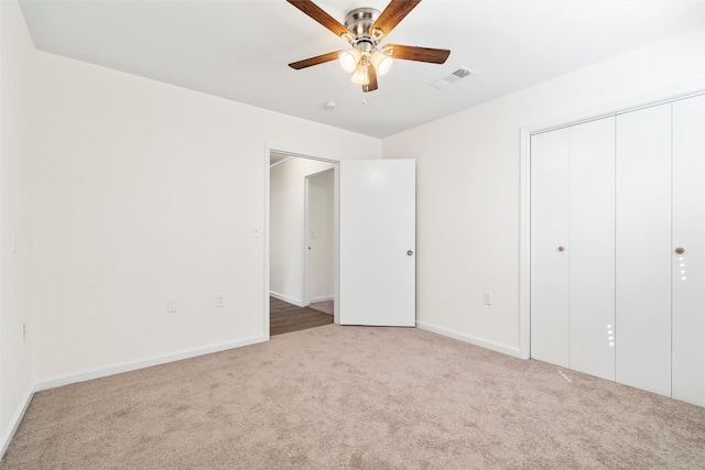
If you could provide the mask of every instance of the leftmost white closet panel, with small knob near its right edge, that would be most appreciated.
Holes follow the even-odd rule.
[[[568,136],[568,129],[531,136],[531,357],[566,368]]]

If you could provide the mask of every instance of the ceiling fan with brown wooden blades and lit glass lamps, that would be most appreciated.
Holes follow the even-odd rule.
[[[299,70],[338,59],[344,70],[352,73],[351,81],[362,86],[362,92],[378,88],[378,75],[389,72],[394,58],[443,64],[451,54],[448,50],[380,44],[421,0],[391,0],[381,13],[373,8],[358,8],[345,17],[345,25],[311,0],[286,1],[352,46],[348,51],[330,52],[289,66]]]

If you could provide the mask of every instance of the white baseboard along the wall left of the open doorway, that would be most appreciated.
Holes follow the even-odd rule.
[[[268,338],[265,336],[257,336],[257,337],[246,338],[239,341],[224,342],[220,345],[208,346],[205,348],[189,349],[186,351],[181,351],[173,354],[159,356],[155,358],[144,359],[141,361],[123,362],[120,364],[80,371],[80,372],[70,373],[66,375],[55,375],[55,376],[36,382],[34,384],[34,391],[40,392],[42,390],[55,389],[57,386],[68,385],[72,383],[85,382],[87,380],[100,379],[108,375],[116,375],[123,372],[135,371],[138,369],[151,368],[152,365],[160,365],[169,362],[181,361],[183,359],[191,359],[191,358],[196,358],[198,356],[220,352],[228,349],[257,345],[258,342],[264,342],[267,340]]]

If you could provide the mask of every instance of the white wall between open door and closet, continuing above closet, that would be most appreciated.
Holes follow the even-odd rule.
[[[703,57],[698,28],[384,139],[416,159],[420,325],[519,353],[520,128],[702,79]]]

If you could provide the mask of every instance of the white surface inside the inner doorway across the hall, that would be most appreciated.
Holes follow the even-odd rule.
[[[308,300],[333,298],[334,173],[308,178]]]

